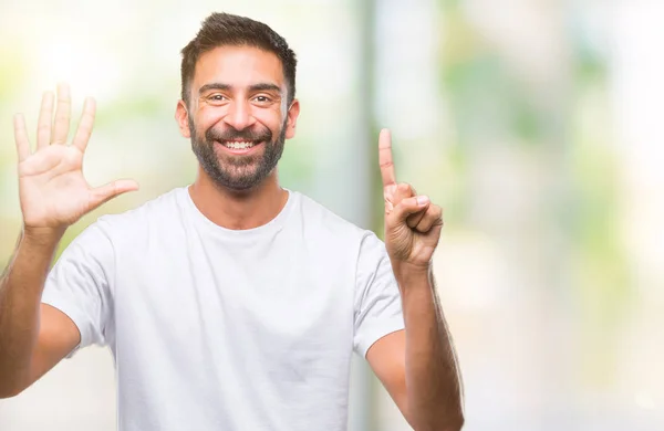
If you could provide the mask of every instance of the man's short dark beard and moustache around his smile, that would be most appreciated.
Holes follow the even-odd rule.
[[[221,132],[210,127],[205,132],[205,137],[200,138],[196,125],[189,118],[189,130],[193,132],[191,149],[203,170],[217,187],[235,191],[249,190],[260,185],[281,159],[287,120],[283,122],[276,139],[272,139],[272,132],[264,126],[253,130],[236,130],[229,127]],[[221,143],[228,140],[261,143],[264,148],[262,154],[258,155],[229,155],[215,148],[216,141],[222,145]]]

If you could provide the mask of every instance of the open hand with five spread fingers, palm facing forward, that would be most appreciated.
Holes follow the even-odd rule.
[[[19,196],[27,232],[61,234],[81,217],[116,196],[138,189],[134,180],[117,180],[92,188],[83,177],[83,154],[94,124],[95,103],[86,98],[79,129],[66,144],[71,120],[69,86],[58,87],[53,120],[53,93],[43,95],[37,133],[37,149],[30,149],[25,120],[14,116],[19,151]]]

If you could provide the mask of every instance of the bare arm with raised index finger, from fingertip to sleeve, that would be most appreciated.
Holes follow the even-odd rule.
[[[396,183],[386,130],[381,133],[378,149],[385,246],[400,290],[405,332],[376,341],[367,360],[413,428],[460,430],[459,372],[432,273],[443,229],[442,209],[411,186]]]

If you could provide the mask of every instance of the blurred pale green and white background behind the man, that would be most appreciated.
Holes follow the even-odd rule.
[[[179,50],[212,11],[264,21],[299,57],[283,186],[382,231],[377,130],[397,178],[445,208],[439,295],[467,430],[664,429],[664,3],[554,0],[0,0],[0,265],[20,230],[11,117],[41,93],[97,99],[85,172],[138,192],[194,179],[173,118]],[[1,430],[112,430],[113,365],[91,348]],[[350,429],[406,430],[357,361]]]

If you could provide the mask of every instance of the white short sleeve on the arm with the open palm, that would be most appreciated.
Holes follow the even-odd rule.
[[[70,243],[49,273],[42,303],[66,314],[81,333],[81,343],[68,357],[83,347],[106,344],[113,266],[112,243],[97,222]]]

